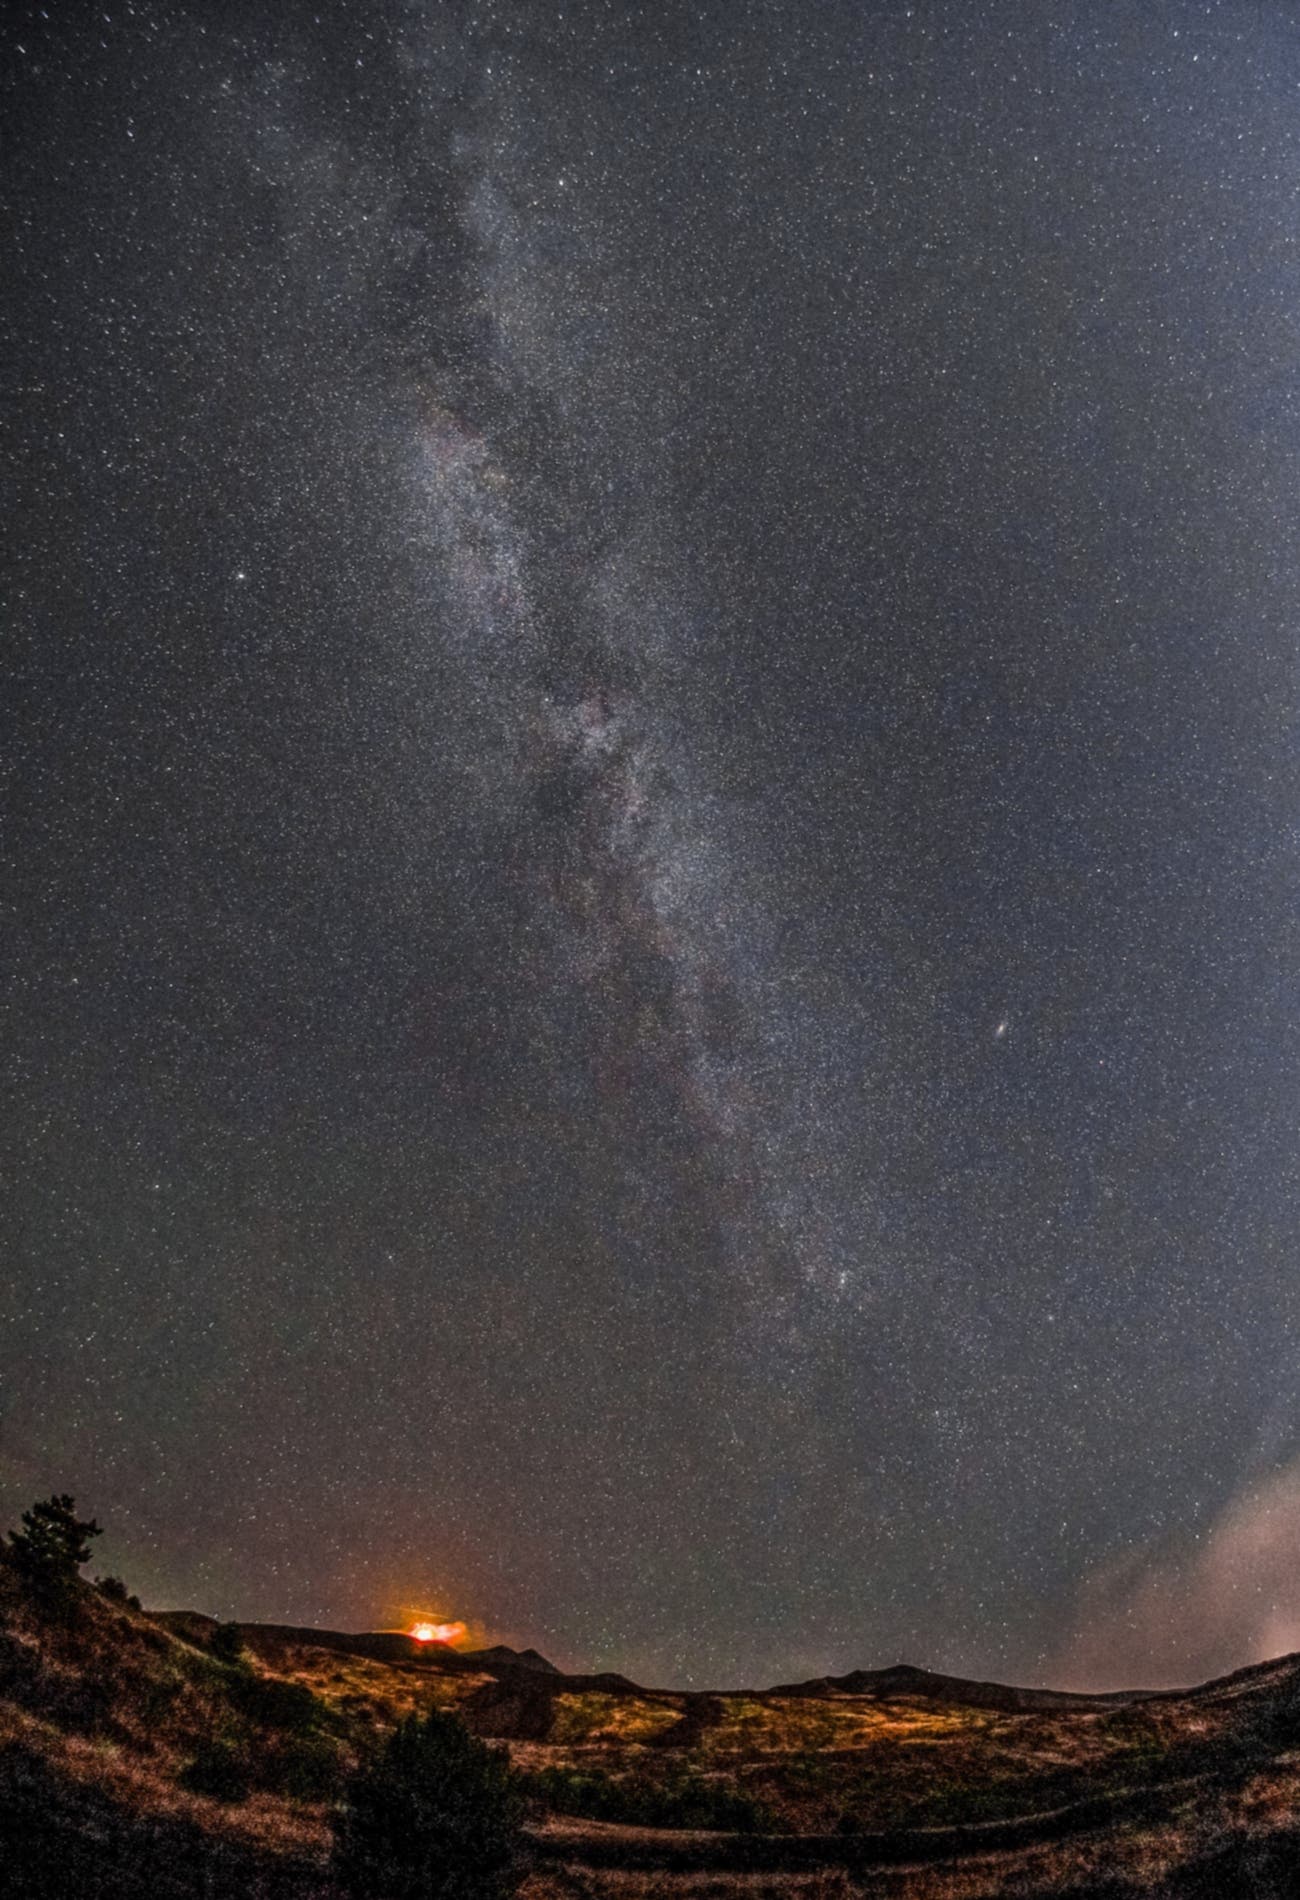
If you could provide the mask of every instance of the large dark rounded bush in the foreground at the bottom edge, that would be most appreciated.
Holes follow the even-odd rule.
[[[363,1900],[498,1900],[521,1879],[523,1794],[456,1716],[409,1716],[354,1776],[335,1870]]]

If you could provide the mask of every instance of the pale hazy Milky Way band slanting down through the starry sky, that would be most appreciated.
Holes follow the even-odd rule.
[[[515,133],[492,101],[502,65],[509,72],[509,55],[485,53],[496,84],[485,82],[460,177],[473,238],[466,294],[492,340],[475,391],[490,420],[479,429],[433,401],[412,479],[411,536],[418,545],[428,522],[439,640],[492,726],[487,745],[475,728],[462,764],[494,819],[519,802],[511,819],[536,851],[538,929],[557,960],[542,982],[580,990],[595,1018],[599,1113],[627,1125],[629,1155],[648,1123],[679,1123],[677,1167],[707,1176],[736,1324],[760,1326],[768,1349],[798,1351],[798,1294],[857,1286],[863,1271],[850,1262],[865,1248],[832,1262],[800,1212],[810,1155],[791,1108],[802,1106],[802,1077],[781,1051],[794,975],[772,954],[772,918],[753,895],[762,842],[703,783],[673,705],[671,680],[701,627],[673,528],[646,500],[665,471],[644,439],[627,456],[564,397],[566,384],[585,386],[597,352],[627,346],[601,304],[580,344],[561,334],[572,312],[553,260],[604,245],[591,232],[572,239],[563,194],[582,192],[582,165],[557,175],[555,201],[530,228],[513,207],[536,186],[511,192]],[[534,110],[545,122],[545,93]],[[492,435],[509,443],[521,418],[528,456],[515,467]],[[572,515],[532,467],[540,439],[551,467],[593,462]],[[498,771],[492,785],[485,764]],[[802,1047],[806,1068],[815,1045]],[[652,1191],[677,1191],[673,1176],[669,1165]]]

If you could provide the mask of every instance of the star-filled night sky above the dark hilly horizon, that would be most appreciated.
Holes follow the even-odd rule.
[[[1300,1647],[1300,19],[4,27],[0,1501],[698,1687]]]

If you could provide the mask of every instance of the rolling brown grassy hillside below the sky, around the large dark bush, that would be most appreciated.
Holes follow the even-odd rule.
[[[53,1613],[0,1564],[4,1890],[333,1900],[346,1776],[433,1706],[506,1738],[530,1776],[532,1900],[1209,1900],[1289,1894],[1279,1870],[1300,1866],[1290,1659],[1186,1697],[1019,1712],[933,1693],[654,1693],[509,1651],[479,1664],[253,1626],[222,1661],[215,1628],[87,1585]]]

